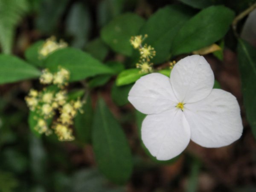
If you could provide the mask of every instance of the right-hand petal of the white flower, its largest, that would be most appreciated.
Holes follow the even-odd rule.
[[[243,125],[239,104],[231,93],[213,89],[196,103],[184,105],[191,140],[203,147],[222,147],[241,137]]]

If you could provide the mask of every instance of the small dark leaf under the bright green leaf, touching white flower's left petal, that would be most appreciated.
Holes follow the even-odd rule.
[[[127,104],[128,101],[128,93],[131,90],[131,87],[133,86],[133,84],[128,84],[128,85],[124,85],[124,86],[116,86],[116,84],[114,83],[111,89],[111,97],[113,102],[117,105],[117,106],[123,106],[125,104]]]

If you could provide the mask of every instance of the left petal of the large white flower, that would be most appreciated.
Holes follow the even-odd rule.
[[[170,79],[160,73],[151,73],[137,80],[128,100],[145,114],[160,113],[177,105]]]

